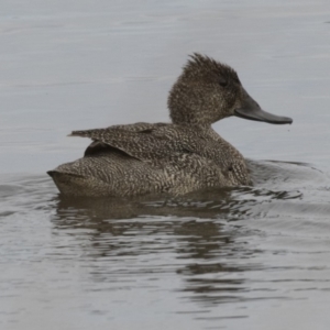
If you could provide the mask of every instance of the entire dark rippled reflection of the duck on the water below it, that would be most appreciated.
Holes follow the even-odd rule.
[[[260,252],[248,246],[241,226],[228,223],[250,217],[272,198],[286,194],[245,187],[133,201],[58,196],[53,223],[88,241],[81,257],[92,263],[91,280],[116,288],[119,278],[130,286],[142,274],[148,279],[179,276],[172,289],[207,307],[243,299],[240,293],[248,287],[238,274],[260,270],[249,262]]]

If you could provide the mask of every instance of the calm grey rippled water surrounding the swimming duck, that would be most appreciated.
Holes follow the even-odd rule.
[[[328,0],[3,0],[0,45],[1,329],[329,329]],[[61,197],[66,135],[167,121],[193,52],[294,118],[215,124],[255,186]]]

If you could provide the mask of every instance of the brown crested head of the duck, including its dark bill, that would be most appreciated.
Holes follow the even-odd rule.
[[[211,125],[230,116],[274,124],[293,122],[262,110],[230,66],[197,53],[169,91],[168,108],[177,124]]]

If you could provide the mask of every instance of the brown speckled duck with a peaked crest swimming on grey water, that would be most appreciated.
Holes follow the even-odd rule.
[[[290,124],[262,110],[237,72],[206,55],[189,56],[169,90],[170,122],[73,131],[91,143],[81,158],[47,174],[61,194],[134,197],[253,185],[243,155],[212,124],[228,117]]]

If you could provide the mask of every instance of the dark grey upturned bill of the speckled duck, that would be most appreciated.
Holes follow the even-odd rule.
[[[241,108],[234,110],[234,116],[273,124],[293,123],[293,120],[288,117],[276,116],[262,110],[258,103],[245,90],[243,105]]]

